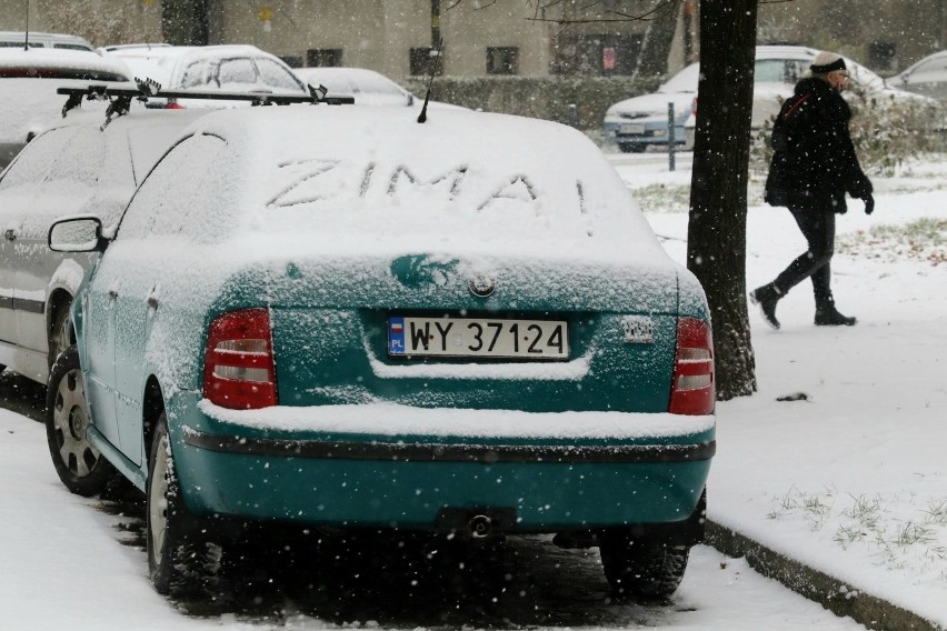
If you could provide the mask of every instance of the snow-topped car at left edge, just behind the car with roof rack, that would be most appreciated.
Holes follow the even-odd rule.
[[[66,99],[57,97],[58,88],[130,80],[128,67],[94,52],[0,48],[0,169],[31,138],[62,119]]]

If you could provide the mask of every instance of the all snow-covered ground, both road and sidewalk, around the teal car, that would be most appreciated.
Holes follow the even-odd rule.
[[[668,173],[660,156],[614,156],[681,262],[688,158],[678,156],[678,170]],[[782,330],[769,330],[751,313],[759,391],[718,407],[709,512],[853,589],[947,624],[945,224],[933,223],[933,237],[915,237],[914,244],[893,242],[901,229],[868,232],[947,220],[947,166],[925,162],[875,181],[875,214],[850,204],[838,222],[834,261],[838,307],[859,323],[814,327],[807,284],[779,303]],[[761,203],[758,188],[751,184],[752,204]],[[804,246],[786,210],[754,206],[748,221],[752,288],[771,280]],[[797,392],[805,400],[777,401]],[[144,554],[126,544],[119,518],[61,487],[42,425],[8,409],[0,409],[0,629],[340,628],[309,612],[277,621],[182,614],[151,589]],[[568,581],[568,572],[560,578]],[[341,627],[378,628],[368,619]],[[760,578],[741,560],[698,547],[671,605],[628,607],[626,623],[606,627],[857,625]]]

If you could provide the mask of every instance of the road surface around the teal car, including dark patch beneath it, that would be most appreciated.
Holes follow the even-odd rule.
[[[206,593],[168,601],[148,582],[141,502],[86,500],[59,483],[36,420],[41,398],[29,381],[0,377],[6,631],[860,629],[706,547],[694,550],[670,601],[615,603],[595,551],[562,551],[542,538],[431,557],[423,544],[273,545],[269,533],[270,544],[248,547],[249,559],[228,565]]]

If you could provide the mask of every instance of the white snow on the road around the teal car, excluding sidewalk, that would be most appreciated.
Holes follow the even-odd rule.
[[[8,382],[10,375],[6,378]],[[158,595],[148,581],[144,551],[133,543],[133,532],[121,524],[140,520],[113,515],[102,502],[70,494],[59,482],[46,447],[43,427],[34,420],[0,408],[0,629],[4,631],[166,631],[186,629],[396,629],[371,619],[342,623],[320,619],[286,599],[277,615],[235,613],[190,617]],[[140,525],[140,523],[139,523]],[[588,619],[610,622],[584,624],[597,628],[642,629],[772,629],[816,627],[830,630],[860,629],[841,620],[775,581],[764,579],[744,560],[727,559],[698,547],[684,583],[670,604],[608,604],[607,583],[597,562],[566,554],[567,565],[554,570],[559,593],[577,604],[554,603],[556,609],[581,612]],[[572,593],[576,575],[597,577],[598,591]],[[403,581],[412,577],[403,577]],[[280,580],[279,577],[276,580]],[[589,581],[586,580],[584,584]],[[397,591],[395,593],[398,593]],[[385,593],[376,598],[386,598]],[[587,603],[587,604],[584,604]],[[574,618],[584,619],[581,613]],[[418,619],[430,615],[418,613]],[[275,620],[276,619],[276,620]],[[615,622],[611,622],[615,621]],[[459,625],[458,625],[459,627]],[[484,628],[465,624],[469,631]],[[530,628],[537,628],[529,625]],[[415,629],[431,627],[413,625]],[[452,625],[438,625],[451,629]],[[510,622],[507,628],[522,628]]]

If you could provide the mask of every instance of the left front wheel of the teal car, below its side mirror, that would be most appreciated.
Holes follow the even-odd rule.
[[[86,437],[86,385],[74,348],[59,355],[52,365],[46,408],[46,438],[59,479],[77,495],[101,493],[117,473]]]

